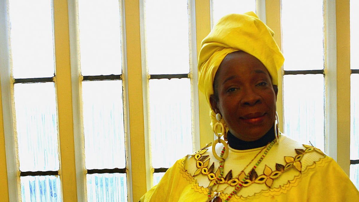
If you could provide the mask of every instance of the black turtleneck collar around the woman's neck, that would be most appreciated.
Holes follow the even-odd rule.
[[[227,140],[230,147],[232,147],[235,150],[249,150],[254,149],[258,147],[266,146],[269,142],[271,142],[275,138],[274,134],[274,125],[271,129],[261,138],[255,140],[255,141],[243,141],[236,136],[234,136],[232,133],[228,131],[227,134]]]

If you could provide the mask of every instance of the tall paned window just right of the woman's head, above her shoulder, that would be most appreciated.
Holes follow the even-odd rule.
[[[282,1],[284,134],[326,151],[323,19],[322,1]]]

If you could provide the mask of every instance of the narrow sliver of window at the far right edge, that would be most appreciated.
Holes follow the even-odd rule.
[[[358,1],[350,1],[350,179],[359,189],[359,8]]]

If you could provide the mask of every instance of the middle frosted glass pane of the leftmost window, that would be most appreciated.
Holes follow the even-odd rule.
[[[14,85],[20,171],[59,170],[55,84]]]

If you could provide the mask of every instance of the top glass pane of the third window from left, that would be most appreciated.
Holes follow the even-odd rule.
[[[190,71],[187,1],[146,0],[145,39],[149,74]]]

